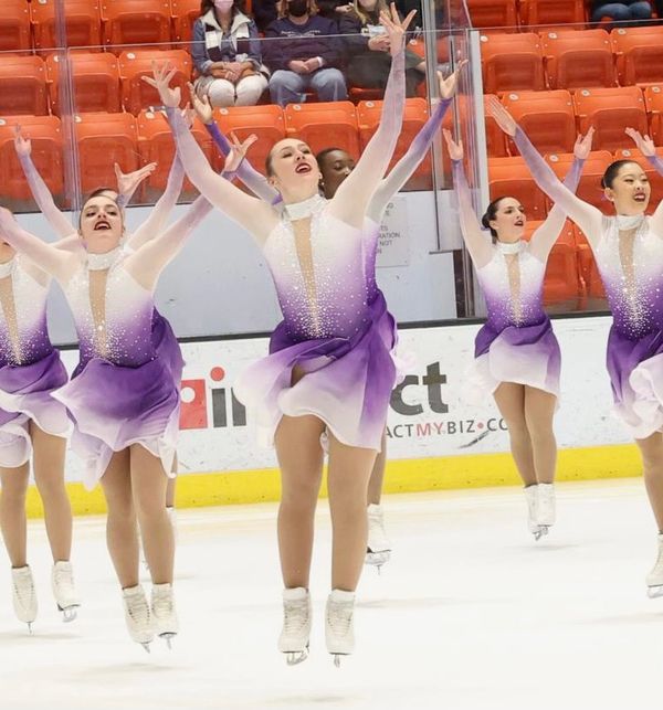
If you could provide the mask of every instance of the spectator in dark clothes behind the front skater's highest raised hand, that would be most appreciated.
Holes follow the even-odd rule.
[[[386,0],[354,0],[354,11],[340,19],[340,34],[350,53],[348,80],[350,86],[385,88],[391,55],[389,38],[380,24],[380,12],[387,11]],[[425,75],[425,62],[406,50],[406,94],[415,96],[417,86]]]

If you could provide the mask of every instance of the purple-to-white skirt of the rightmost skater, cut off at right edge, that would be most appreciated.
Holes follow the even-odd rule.
[[[631,340],[612,326],[607,367],[614,411],[633,438],[663,431],[663,331]]]

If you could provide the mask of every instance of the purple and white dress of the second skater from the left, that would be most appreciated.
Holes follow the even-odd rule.
[[[171,363],[152,336],[154,297],[123,267],[127,253],[90,254],[64,285],[81,360],[54,396],[74,422],[72,447],[94,487],[114,452],[131,444],[161,459],[171,476],[179,427],[179,391]],[[91,272],[107,269],[104,298],[93,306]]]

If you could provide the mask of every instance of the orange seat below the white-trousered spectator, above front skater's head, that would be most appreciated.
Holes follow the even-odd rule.
[[[265,161],[272,146],[285,138],[285,118],[281,106],[266,104],[217,108],[214,118],[227,136],[230,136],[231,131],[234,131],[240,140],[244,140],[251,134],[257,136],[257,140],[249,150],[249,159],[251,165],[264,174]],[[220,170],[223,162],[223,158],[214,148],[212,165]]]

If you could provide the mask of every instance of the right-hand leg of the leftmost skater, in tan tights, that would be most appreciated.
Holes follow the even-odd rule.
[[[67,561],[72,553],[72,507],[64,486],[66,439],[30,423],[34,483],[44,504],[46,533],[53,561]]]

